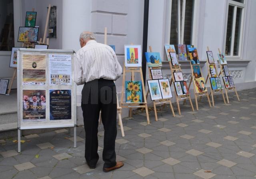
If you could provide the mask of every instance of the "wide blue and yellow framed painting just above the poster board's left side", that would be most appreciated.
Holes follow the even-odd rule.
[[[20,27],[18,34],[18,42],[37,42],[38,30],[39,27]]]

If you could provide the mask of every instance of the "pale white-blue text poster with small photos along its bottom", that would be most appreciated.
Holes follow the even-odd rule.
[[[50,85],[72,85],[71,55],[49,54]]]

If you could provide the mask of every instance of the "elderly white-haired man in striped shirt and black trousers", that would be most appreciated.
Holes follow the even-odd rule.
[[[80,34],[80,46],[74,57],[73,79],[83,85],[82,111],[85,130],[85,158],[93,169],[98,155],[98,119],[101,110],[104,125],[103,171],[108,172],[124,165],[116,162],[116,86],[114,81],[122,73],[114,50],[97,43],[92,32]]]

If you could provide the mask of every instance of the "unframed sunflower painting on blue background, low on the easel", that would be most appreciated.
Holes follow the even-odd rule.
[[[125,81],[126,102],[142,102],[142,83],[141,81]]]

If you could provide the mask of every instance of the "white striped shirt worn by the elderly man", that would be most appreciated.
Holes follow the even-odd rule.
[[[121,73],[122,67],[109,45],[89,40],[74,55],[72,76],[77,85],[83,85],[94,79],[116,80]]]

